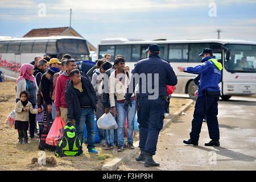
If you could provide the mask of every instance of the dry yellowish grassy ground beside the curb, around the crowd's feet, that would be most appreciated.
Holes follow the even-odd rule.
[[[172,98],[171,113],[174,113],[186,100]],[[37,159],[44,155],[38,150],[38,142],[28,140],[28,144],[18,144],[18,133],[5,124],[7,116],[15,108],[15,82],[0,82],[0,170],[101,170],[104,163],[114,156],[112,151],[96,144],[98,154],[89,154],[84,144],[81,156],[56,158],[53,152],[46,152],[47,165],[39,165]],[[137,140],[138,138],[134,138]]]

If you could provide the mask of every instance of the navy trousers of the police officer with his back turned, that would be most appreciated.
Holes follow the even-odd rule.
[[[146,97],[139,101],[139,148],[148,154],[155,155],[158,135],[163,129],[164,109],[166,101],[162,98],[148,100]]]

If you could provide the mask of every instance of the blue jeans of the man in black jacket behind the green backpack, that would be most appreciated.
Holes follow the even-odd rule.
[[[79,139],[84,141],[84,123],[87,129],[87,148],[94,148],[94,111],[93,109],[82,109],[79,121],[76,121],[76,130]]]

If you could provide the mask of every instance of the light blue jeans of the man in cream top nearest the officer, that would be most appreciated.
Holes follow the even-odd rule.
[[[127,115],[127,142],[133,143],[133,121],[136,113],[135,110],[135,101],[131,102],[132,106],[129,105],[128,110],[126,112],[124,105],[118,104],[115,102],[117,107],[117,143],[118,146],[123,146],[125,144],[123,137],[125,135],[125,118]]]

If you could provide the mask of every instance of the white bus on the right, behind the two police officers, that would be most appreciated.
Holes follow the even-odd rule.
[[[178,83],[175,93],[187,93],[195,98],[193,93],[197,89],[193,79],[196,75],[179,72],[177,66],[195,67],[201,63],[199,53],[204,48],[212,48],[213,55],[224,65],[220,82],[222,100],[229,100],[231,96],[256,94],[256,43],[243,40],[155,40],[134,41],[125,38],[104,39],[98,45],[98,58],[106,53],[125,56],[127,65],[131,69],[138,60],[146,57],[149,44],[160,46],[160,57],[170,61],[177,75]]]

